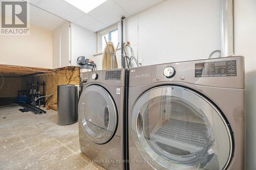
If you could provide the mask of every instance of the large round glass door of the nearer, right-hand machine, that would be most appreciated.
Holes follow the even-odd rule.
[[[220,111],[185,87],[143,93],[132,110],[131,132],[141,155],[156,169],[225,169],[232,154]]]

